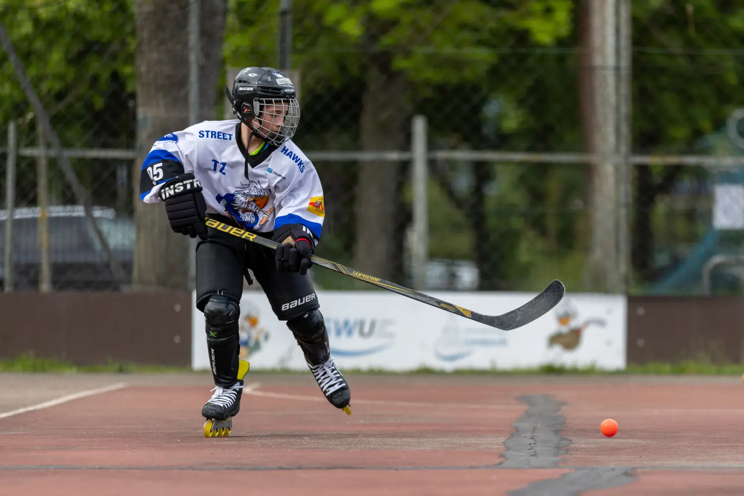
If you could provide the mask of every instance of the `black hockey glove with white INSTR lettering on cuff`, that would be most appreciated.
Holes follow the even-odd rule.
[[[165,202],[165,212],[173,232],[207,239],[207,225],[204,223],[207,204],[199,179],[192,173],[176,176],[163,184],[158,196]]]

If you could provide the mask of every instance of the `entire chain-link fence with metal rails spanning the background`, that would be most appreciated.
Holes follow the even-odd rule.
[[[6,49],[13,289],[185,288],[193,244],[139,202],[141,159],[167,132],[233,118],[224,87],[248,65],[298,88],[323,257],[421,289],[744,289],[732,2],[39,0],[0,14],[110,253]]]

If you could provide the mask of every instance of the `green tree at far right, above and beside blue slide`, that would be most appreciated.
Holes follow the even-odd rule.
[[[725,0],[633,2],[633,143],[637,153],[696,153],[744,104],[744,5]],[[659,276],[659,200],[701,167],[635,167],[632,265],[639,283]],[[705,180],[705,179],[704,179]],[[689,242],[696,240],[687,222]]]

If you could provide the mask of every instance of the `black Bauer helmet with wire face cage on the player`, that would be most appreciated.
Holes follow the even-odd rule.
[[[232,94],[228,88],[225,91],[233,113],[251,129],[252,135],[275,146],[295,135],[300,104],[295,85],[283,72],[271,67],[246,67],[235,77]],[[281,123],[278,131],[272,129],[272,122]]]

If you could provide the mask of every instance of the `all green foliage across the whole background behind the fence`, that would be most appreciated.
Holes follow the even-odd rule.
[[[359,149],[365,64],[375,54],[388,54],[392,68],[408,80],[412,111],[429,120],[433,149],[583,151],[581,4],[295,0],[292,66],[301,74],[303,104],[298,144],[307,150]],[[278,65],[279,5],[229,0],[226,65]],[[632,16],[634,151],[713,153],[705,148],[708,138],[744,103],[744,5],[634,1]],[[0,19],[65,146],[132,148],[132,0],[0,0]],[[13,69],[0,54],[0,123],[19,122],[20,146],[35,144],[29,112]],[[474,260],[478,247],[486,245],[490,259],[484,263],[491,265],[481,270],[513,289],[542,287],[539,272],[562,270],[570,277],[579,270],[587,234],[580,223],[585,187],[580,164],[440,165],[447,175],[433,179],[429,191],[429,227],[437,240],[432,257]],[[52,190],[65,190],[54,161],[52,166]],[[74,160],[74,167],[86,184],[98,186],[94,201],[108,202],[115,185],[100,187],[96,181],[111,171],[102,173],[93,161]],[[339,210],[353,210],[356,164],[320,163],[318,170],[334,192],[327,213],[333,234],[319,254],[348,262],[356,226],[353,215]],[[479,178],[487,184],[478,185]],[[635,284],[647,287],[709,227],[696,202],[713,175],[699,167],[643,166],[635,168],[634,180],[634,265],[640,276]],[[19,184],[25,193],[19,199],[33,203],[33,183],[33,161],[22,159]],[[442,183],[451,184],[456,196]],[[679,193],[684,184],[696,184],[695,195]],[[404,194],[410,204],[410,193]],[[468,224],[471,200],[478,195],[485,234]],[[672,262],[658,262],[664,259]]]

